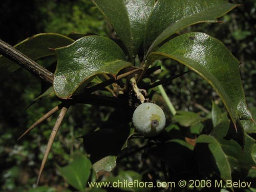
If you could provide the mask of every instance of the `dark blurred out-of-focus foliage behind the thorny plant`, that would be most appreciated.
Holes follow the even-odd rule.
[[[200,24],[180,33],[201,31],[221,40],[240,61],[241,78],[249,108],[256,105],[256,3],[254,0],[237,0],[243,4],[220,18],[226,24]],[[56,32],[67,35],[71,32],[96,33],[108,36],[111,29],[89,0],[34,0],[3,1],[0,5],[0,38],[11,45],[42,32]],[[45,62],[45,61],[38,61]],[[183,72],[184,66],[166,59],[162,73],[170,76]],[[165,87],[177,110],[188,110],[207,114],[211,109],[211,99],[222,103],[209,84],[195,73],[188,73]],[[48,141],[56,116],[49,118],[21,141],[16,139],[38,117],[52,109],[58,101],[42,99],[25,111],[25,108],[40,93],[40,81],[24,69],[14,72],[1,82],[0,86],[0,185],[1,191],[23,191],[35,183],[40,160]],[[163,98],[155,96],[155,101],[164,105]],[[72,160],[74,151],[82,151],[80,139],[95,130],[108,119],[111,108],[92,105],[75,105],[68,112],[66,121],[53,144],[48,163],[41,180],[42,184],[55,186],[59,191],[67,183],[56,175],[56,166]],[[141,144],[141,143],[140,143]],[[136,143],[131,143],[136,145]],[[53,155],[54,154],[54,155]],[[120,169],[136,168],[140,173],[143,164],[138,157],[120,160]],[[151,166],[161,169],[157,162]],[[157,174],[157,173],[154,173]],[[163,177],[163,176],[162,176]]]

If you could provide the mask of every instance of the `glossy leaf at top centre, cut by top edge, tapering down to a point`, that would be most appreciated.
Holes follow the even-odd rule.
[[[114,27],[132,59],[135,58],[144,38],[147,18],[154,0],[93,0]]]

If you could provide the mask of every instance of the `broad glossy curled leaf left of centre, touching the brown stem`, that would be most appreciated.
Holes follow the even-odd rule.
[[[53,89],[63,99],[81,91],[96,75],[115,76],[132,65],[125,61],[123,51],[114,41],[101,36],[82,37],[70,46],[56,49],[56,52],[58,61]]]

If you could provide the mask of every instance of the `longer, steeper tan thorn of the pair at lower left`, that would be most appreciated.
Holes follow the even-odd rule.
[[[49,138],[49,141],[47,143],[47,147],[46,147],[46,151],[45,151],[45,154],[44,154],[44,157],[42,158],[42,162],[41,162],[41,166],[40,166],[40,170],[39,170],[39,174],[38,174],[38,177],[37,177],[37,181],[36,181],[36,187],[38,186],[38,183],[39,183],[39,180],[41,178],[41,175],[42,175],[42,170],[44,169],[45,167],[45,164],[46,164],[46,161],[47,161],[47,158],[48,158],[48,155],[50,153],[50,150],[52,148],[52,144],[53,144],[53,141],[59,131],[59,127],[61,125],[61,122],[65,116],[65,114],[67,113],[68,111],[68,106],[67,108],[65,106],[63,106],[63,108],[61,109],[60,113],[59,113],[59,116],[55,122],[55,125],[52,129],[52,132],[51,132],[51,135],[50,135],[50,138]]]

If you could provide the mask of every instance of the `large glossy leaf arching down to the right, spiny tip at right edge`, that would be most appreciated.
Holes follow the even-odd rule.
[[[223,100],[233,124],[252,118],[240,79],[240,62],[219,40],[205,33],[186,33],[151,53],[148,62],[161,58],[175,59],[208,81]]]

